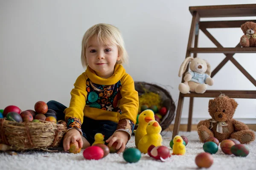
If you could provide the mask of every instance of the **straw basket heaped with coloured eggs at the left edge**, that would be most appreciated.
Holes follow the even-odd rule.
[[[66,130],[66,122],[57,122],[57,113],[43,101],[35,103],[35,111],[21,111],[15,105],[0,110],[0,150],[52,151]]]

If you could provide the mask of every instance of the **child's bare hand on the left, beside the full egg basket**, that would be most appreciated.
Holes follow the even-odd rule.
[[[79,147],[83,147],[81,133],[76,128],[68,130],[63,139],[64,150],[69,150],[70,142],[75,143],[76,141],[79,143]]]

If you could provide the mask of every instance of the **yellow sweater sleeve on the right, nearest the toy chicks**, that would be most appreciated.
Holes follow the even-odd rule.
[[[116,131],[122,130],[129,134],[129,139],[136,124],[138,109],[139,109],[139,96],[134,87],[134,80],[128,74],[121,79],[122,88],[120,90],[122,99],[120,99],[119,108],[122,114],[119,116],[119,122]]]

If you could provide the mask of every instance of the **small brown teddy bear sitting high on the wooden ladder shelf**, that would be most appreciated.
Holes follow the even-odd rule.
[[[256,23],[246,22],[241,25],[244,35],[240,39],[242,47],[256,47]]]

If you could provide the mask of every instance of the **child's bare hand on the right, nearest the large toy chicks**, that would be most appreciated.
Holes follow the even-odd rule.
[[[116,149],[120,150],[117,153],[121,153],[125,150],[125,145],[128,142],[129,134],[125,131],[116,131],[112,136],[106,140],[108,145],[111,147],[114,142],[117,142]]]

